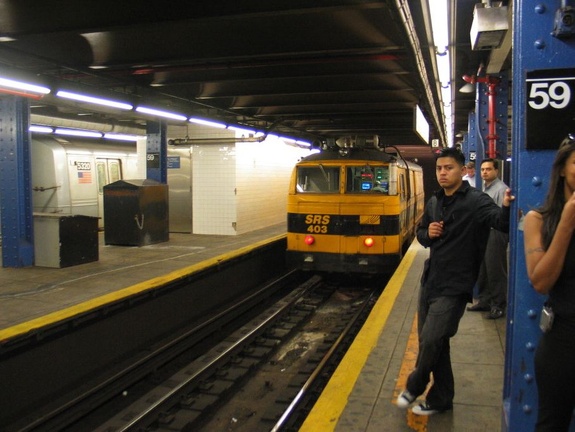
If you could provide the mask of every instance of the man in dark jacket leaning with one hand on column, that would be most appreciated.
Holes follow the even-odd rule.
[[[421,281],[418,306],[419,353],[415,370],[397,399],[407,408],[421,395],[433,373],[427,400],[412,408],[418,415],[432,415],[453,408],[455,394],[449,339],[457,333],[465,305],[472,301],[490,229],[509,231],[509,204],[503,206],[462,180],[465,157],[445,148],[436,159],[435,173],[441,189],[427,202],[419,242],[430,248]]]

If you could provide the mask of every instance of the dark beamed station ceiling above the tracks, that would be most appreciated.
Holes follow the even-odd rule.
[[[475,100],[457,91],[460,77],[493,54],[471,49],[475,3],[450,1],[454,134],[467,129]],[[413,130],[420,105],[443,142],[430,7],[433,0],[0,0],[0,75],[307,140],[359,134],[422,145]],[[505,68],[508,53],[499,57]],[[37,119],[143,130],[147,120],[52,94],[31,106]]]

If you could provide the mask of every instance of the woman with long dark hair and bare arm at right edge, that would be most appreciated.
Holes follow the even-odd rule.
[[[544,204],[524,220],[527,275],[547,295],[535,352],[535,430],[568,431],[575,408],[575,136],[563,140]]]

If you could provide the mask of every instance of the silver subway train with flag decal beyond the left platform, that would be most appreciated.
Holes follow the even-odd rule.
[[[33,134],[32,206],[35,213],[85,215],[104,228],[104,186],[117,180],[144,179],[145,160],[135,142],[60,138]],[[168,148],[170,230],[191,232],[191,151]]]

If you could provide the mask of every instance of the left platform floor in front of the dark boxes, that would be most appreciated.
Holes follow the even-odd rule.
[[[0,336],[13,326],[171,272],[207,266],[285,233],[285,223],[237,236],[170,233],[169,241],[142,247],[104,245],[100,233],[98,261],[65,268],[0,268]]]

